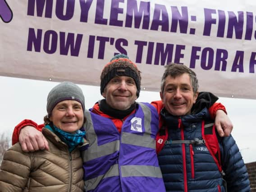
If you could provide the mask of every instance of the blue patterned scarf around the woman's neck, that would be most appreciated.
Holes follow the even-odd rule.
[[[50,129],[61,139],[61,141],[69,146],[69,152],[72,152],[74,148],[76,148],[79,144],[83,143],[83,137],[86,133],[85,131],[77,130],[74,134],[71,134],[55,127],[55,125],[53,125],[52,123],[46,125],[45,127],[47,129]]]

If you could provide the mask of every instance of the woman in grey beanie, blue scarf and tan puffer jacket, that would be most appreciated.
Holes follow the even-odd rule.
[[[79,147],[88,144],[84,124],[84,95],[72,82],[62,82],[47,97],[47,116],[42,133],[49,150],[26,153],[19,143],[4,155],[0,189],[4,191],[83,192]]]

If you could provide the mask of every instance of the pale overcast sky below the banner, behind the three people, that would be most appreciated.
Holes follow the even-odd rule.
[[[15,125],[23,119],[31,119],[43,123],[46,115],[46,98],[56,82],[28,80],[0,76],[0,134],[9,137]],[[86,108],[93,106],[101,99],[100,87],[79,85],[85,95]],[[142,91],[138,102],[159,100],[157,92]],[[256,161],[256,99],[219,98],[224,104],[229,118],[233,122],[233,137],[240,148],[245,163]]]

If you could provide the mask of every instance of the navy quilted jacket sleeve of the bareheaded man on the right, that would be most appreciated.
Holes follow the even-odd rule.
[[[228,192],[249,192],[250,181],[247,169],[233,137],[222,138],[220,148]]]

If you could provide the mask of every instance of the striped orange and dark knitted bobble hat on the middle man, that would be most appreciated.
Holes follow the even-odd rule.
[[[135,81],[137,87],[137,97],[139,97],[141,90],[141,71],[138,70],[135,63],[133,63],[127,55],[117,54],[105,65],[101,72],[101,95],[108,82],[115,76],[129,76]]]

